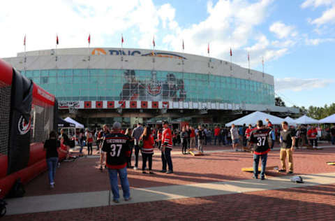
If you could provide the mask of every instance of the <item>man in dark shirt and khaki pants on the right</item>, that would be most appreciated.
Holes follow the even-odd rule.
[[[281,131],[281,168],[279,172],[286,172],[285,158],[288,157],[288,173],[293,173],[293,152],[295,151],[295,131],[288,128],[288,122],[281,124],[283,130]]]

